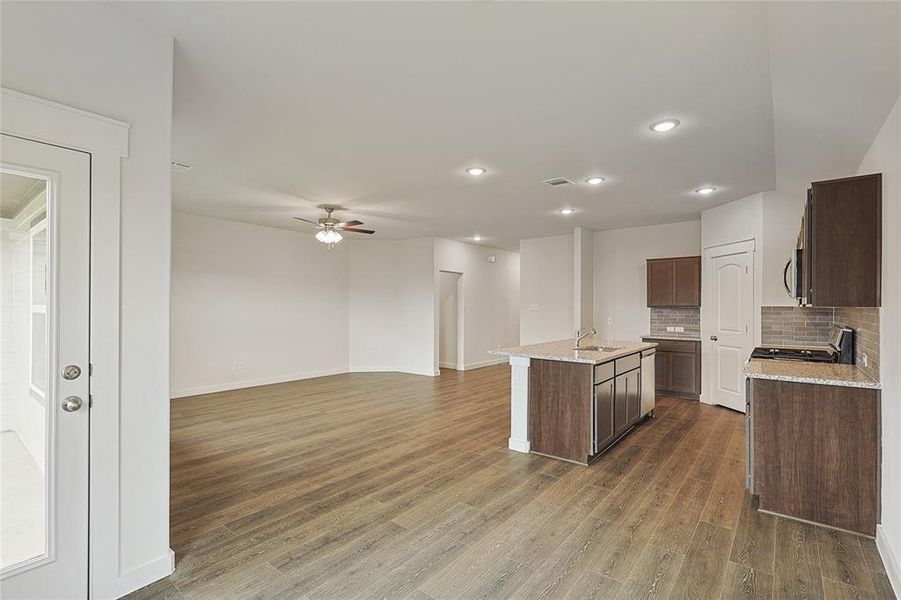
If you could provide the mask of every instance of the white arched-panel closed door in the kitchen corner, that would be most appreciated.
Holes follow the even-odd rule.
[[[754,347],[754,255],[723,249],[710,257],[713,403],[745,411],[744,363]]]

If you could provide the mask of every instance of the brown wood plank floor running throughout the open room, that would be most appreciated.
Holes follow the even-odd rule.
[[[872,540],[757,512],[744,419],[658,399],[590,467],[508,451],[509,368],[172,402],[194,598],[893,598]]]

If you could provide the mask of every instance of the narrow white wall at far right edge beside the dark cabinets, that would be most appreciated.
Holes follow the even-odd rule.
[[[882,525],[876,533],[901,594],[901,97],[873,141],[859,175],[882,173]]]

